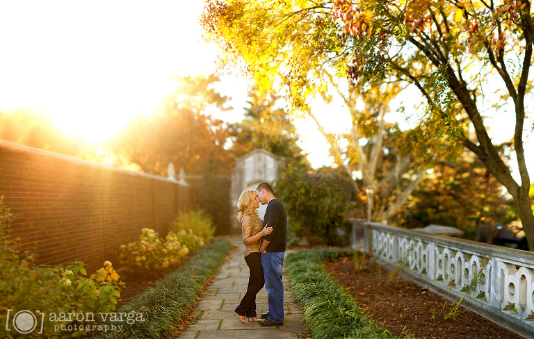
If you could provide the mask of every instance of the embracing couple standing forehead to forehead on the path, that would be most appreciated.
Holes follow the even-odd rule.
[[[267,204],[264,220],[258,217],[259,204]],[[261,326],[284,324],[284,285],[282,265],[286,254],[287,217],[284,206],[276,199],[268,183],[255,191],[245,190],[237,202],[237,220],[245,244],[245,262],[250,270],[247,292],[236,308],[239,321],[251,317]],[[256,295],[264,287],[268,292],[268,313],[256,315]]]

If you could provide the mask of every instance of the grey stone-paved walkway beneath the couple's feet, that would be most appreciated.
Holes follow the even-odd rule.
[[[293,301],[285,274],[283,277],[285,316],[282,326],[263,327],[252,320],[248,324],[238,320],[234,309],[247,290],[248,266],[243,258],[244,245],[241,238],[230,238],[230,240],[239,250],[221,265],[216,281],[200,296],[202,299],[193,311],[193,314],[200,315],[200,319],[177,338],[301,338],[305,331],[305,327],[300,323],[302,308]],[[267,298],[267,291],[263,288],[256,299],[258,317],[262,312],[268,311]]]

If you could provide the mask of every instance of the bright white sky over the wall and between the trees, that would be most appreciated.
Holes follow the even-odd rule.
[[[218,49],[202,41],[203,7],[203,0],[0,1],[0,108],[30,108],[67,133],[105,140],[134,115],[154,112],[173,77],[213,72]],[[225,76],[218,90],[235,108],[218,117],[241,120],[247,81]],[[351,124],[341,105],[313,109],[327,131]],[[312,119],[294,123],[312,166],[330,165]],[[495,128],[503,124],[510,120]],[[534,172],[534,163],[528,167]]]

